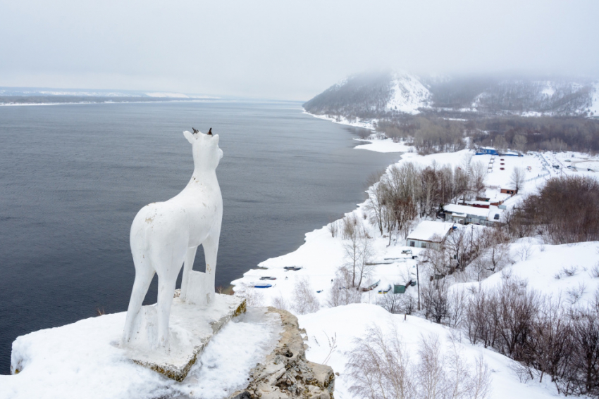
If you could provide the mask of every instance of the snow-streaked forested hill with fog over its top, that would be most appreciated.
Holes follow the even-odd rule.
[[[364,73],[329,87],[304,103],[304,109],[350,119],[417,113],[592,116],[599,115],[599,83],[589,78]]]

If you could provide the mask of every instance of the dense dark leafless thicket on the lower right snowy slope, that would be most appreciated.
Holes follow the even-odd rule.
[[[462,327],[471,343],[519,362],[521,379],[547,374],[565,395],[599,395],[599,304],[565,306],[522,281],[505,279],[466,302]]]

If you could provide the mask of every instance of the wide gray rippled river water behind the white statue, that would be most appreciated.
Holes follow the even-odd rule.
[[[399,159],[352,149],[352,132],[299,103],[0,107],[0,373],[17,336],[127,309],[131,222],[187,184],[182,132],[192,126],[212,127],[225,154],[217,286],[295,251]],[[194,268],[203,269],[201,251]],[[145,303],[155,301],[154,280]]]

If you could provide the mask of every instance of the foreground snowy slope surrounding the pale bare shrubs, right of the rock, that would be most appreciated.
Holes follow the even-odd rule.
[[[380,306],[364,303],[338,306],[319,310],[319,312],[299,317],[300,327],[306,329],[308,334],[307,358],[312,362],[323,362],[331,347],[329,339],[336,337],[337,346],[327,365],[333,367],[340,376],[335,379],[335,398],[358,398],[350,393],[352,379],[347,375],[346,364],[349,360],[348,351],[354,346],[354,340],[361,338],[368,329],[379,327],[385,335],[393,334],[395,327],[404,345],[409,361],[416,363],[419,359],[418,350],[421,348],[423,336],[438,337],[443,351],[450,349],[450,329],[440,324],[434,324],[420,317],[392,315]],[[510,369],[512,361],[493,350],[482,346],[473,346],[467,340],[456,342],[457,350],[470,365],[478,355],[483,356],[484,362],[491,370],[490,399],[526,398],[541,399],[555,398],[555,388],[550,385],[549,379],[544,384],[529,381],[523,384],[516,374]]]

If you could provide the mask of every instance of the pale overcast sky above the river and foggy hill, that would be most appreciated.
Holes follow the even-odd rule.
[[[0,0],[0,86],[307,100],[373,68],[599,77],[599,1]]]

